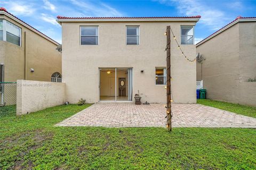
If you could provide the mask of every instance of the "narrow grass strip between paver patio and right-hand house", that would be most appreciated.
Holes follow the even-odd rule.
[[[237,113],[239,115],[245,115],[245,116],[256,118],[256,107],[227,103],[223,101],[209,100],[209,99],[197,99],[197,103],[223,109],[225,111]]]

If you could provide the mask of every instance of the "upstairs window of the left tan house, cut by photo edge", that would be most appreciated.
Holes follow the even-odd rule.
[[[0,20],[0,40],[21,46],[21,28],[9,21]]]

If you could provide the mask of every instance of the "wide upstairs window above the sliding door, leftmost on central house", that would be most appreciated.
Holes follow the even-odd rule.
[[[81,26],[81,45],[98,45],[98,26]]]

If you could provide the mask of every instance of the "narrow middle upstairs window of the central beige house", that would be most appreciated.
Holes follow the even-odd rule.
[[[139,45],[139,26],[126,26],[126,45]]]

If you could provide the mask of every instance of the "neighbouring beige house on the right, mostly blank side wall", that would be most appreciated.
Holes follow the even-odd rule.
[[[206,59],[197,62],[197,81],[207,98],[256,106],[256,18],[238,16],[196,50]]]

